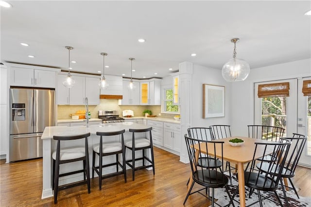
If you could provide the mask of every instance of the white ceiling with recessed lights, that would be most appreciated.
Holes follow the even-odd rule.
[[[251,69],[311,57],[310,0],[7,2],[13,7],[0,10],[1,62],[67,70],[65,46],[72,46],[72,71],[100,74],[107,52],[105,74],[130,77],[134,57],[133,78],[165,77],[184,61],[222,69],[235,37],[237,57]]]

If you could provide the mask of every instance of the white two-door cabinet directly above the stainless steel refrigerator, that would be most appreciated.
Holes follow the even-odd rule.
[[[55,71],[11,67],[11,86],[55,88]]]

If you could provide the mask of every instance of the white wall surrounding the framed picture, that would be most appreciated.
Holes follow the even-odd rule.
[[[231,83],[226,82],[219,69],[193,65],[191,127],[208,127],[213,124],[230,124]],[[203,84],[225,86],[225,117],[203,119]]]

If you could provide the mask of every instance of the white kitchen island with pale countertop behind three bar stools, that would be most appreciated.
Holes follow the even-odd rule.
[[[99,143],[99,136],[96,135],[96,132],[113,132],[113,131],[120,131],[125,129],[124,133],[124,140],[131,139],[132,133],[129,132],[129,129],[146,129],[148,126],[143,124],[137,124],[133,122],[119,122],[119,123],[103,123],[98,125],[90,125],[86,126],[50,126],[44,129],[41,139],[43,139],[43,189],[42,189],[42,199],[52,197],[52,152],[56,149],[56,141],[53,140],[53,136],[72,136],[78,134],[85,134],[90,133],[91,136],[88,138],[88,150],[89,150],[89,163],[90,163],[90,170],[92,169],[92,146],[94,144]],[[144,134],[141,134],[140,137],[144,137]],[[136,136],[135,136],[136,137]],[[139,138],[139,136],[138,136]],[[105,141],[120,141],[120,136],[109,137]],[[72,142],[65,142],[62,147],[69,147],[69,146],[83,146],[83,140],[77,140],[74,143]],[[150,153],[148,153],[150,157]],[[112,157],[111,157],[112,158]],[[126,159],[131,158],[131,153],[126,151]],[[72,163],[64,164],[66,168],[61,168],[60,172],[66,172],[66,169],[70,169],[70,171],[75,170],[75,168],[79,168]],[[108,169],[108,171],[113,171],[113,169]],[[63,171],[63,172],[62,172]],[[110,172],[108,172],[110,173]],[[91,174],[91,173],[90,173]],[[83,173],[78,175],[69,175],[64,177],[63,180],[60,180],[59,183],[61,185],[77,182],[83,180]]]

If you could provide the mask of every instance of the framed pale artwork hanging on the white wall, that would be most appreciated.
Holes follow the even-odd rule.
[[[203,119],[225,117],[225,86],[203,84]]]

